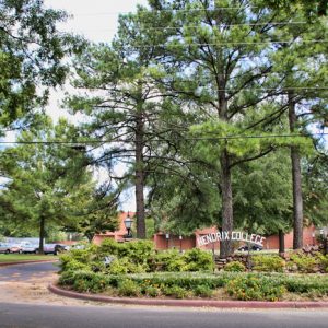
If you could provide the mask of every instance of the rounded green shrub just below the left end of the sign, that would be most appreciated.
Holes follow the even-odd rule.
[[[183,256],[186,266],[186,271],[213,271],[213,257],[209,251],[199,248],[187,250]]]

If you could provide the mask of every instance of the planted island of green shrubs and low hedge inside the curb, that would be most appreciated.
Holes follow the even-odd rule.
[[[214,272],[212,255],[197,248],[155,251],[151,242],[116,243],[60,256],[59,284],[110,296],[213,300],[328,300],[328,257],[319,253],[254,255],[253,271],[230,261]],[[291,271],[293,273],[291,273]],[[318,272],[321,273],[309,273]]]

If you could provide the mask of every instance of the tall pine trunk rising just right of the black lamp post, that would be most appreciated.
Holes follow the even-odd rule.
[[[140,109],[140,108],[139,108]],[[136,117],[136,208],[137,208],[137,238],[145,238],[144,221],[144,172],[143,172],[143,119],[142,112]]]

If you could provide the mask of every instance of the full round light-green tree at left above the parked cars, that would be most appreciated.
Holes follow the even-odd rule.
[[[44,239],[48,231],[74,225],[80,220],[95,190],[92,172],[85,165],[86,154],[62,144],[43,144],[71,141],[77,134],[66,120],[54,126],[44,116],[39,130],[23,131],[17,137],[22,144],[1,153],[1,172],[8,178],[0,194],[4,221]]]

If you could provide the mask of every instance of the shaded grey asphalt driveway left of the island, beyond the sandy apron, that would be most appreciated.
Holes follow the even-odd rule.
[[[59,270],[56,263],[30,263],[0,267],[0,281],[27,281],[31,279],[43,278]],[[1,327],[1,324],[0,324]]]

